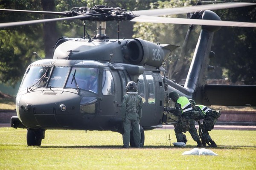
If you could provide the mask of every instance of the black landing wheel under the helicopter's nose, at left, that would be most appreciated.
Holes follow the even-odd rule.
[[[44,138],[43,132],[43,130],[28,129],[26,136],[28,146],[41,146],[42,139]]]

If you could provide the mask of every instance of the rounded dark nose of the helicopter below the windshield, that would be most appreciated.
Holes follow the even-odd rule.
[[[29,128],[70,127],[81,122],[81,96],[65,91],[33,91],[23,94],[17,114]]]

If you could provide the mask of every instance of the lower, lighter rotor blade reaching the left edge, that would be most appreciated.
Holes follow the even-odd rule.
[[[85,19],[90,16],[75,16],[75,17],[66,17],[66,18],[51,18],[51,19],[44,19],[44,20],[31,20],[31,21],[19,21],[19,22],[12,22],[12,23],[0,23],[0,28],[3,27],[11,27],[11,26],[21,26],[21,25],[28,25],[28,24],[36,24],[36,23],[46,23],[46,22],[53,22],[53,21],[61,21],[61,20],[75,20],[75,19]]]

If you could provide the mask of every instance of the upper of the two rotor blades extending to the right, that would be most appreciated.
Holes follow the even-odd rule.
[[[208,5],[199,5],[199,6],[188,6],[180,8],[162,8],[162,9],[149,9],[141,11],[133,11],[137,15],[147,15],[147,16],[162,16],[162,15],[171,15],[171,14],[186,14],[191,12],[200,12],[205,10],[216,10],[216,9],[225,9],[225,8],[237,8],[243,6],[253,6],[256,3],[217,3],[217,4],[208,4]]]

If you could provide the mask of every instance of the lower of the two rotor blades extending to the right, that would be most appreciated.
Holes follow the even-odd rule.
[[[236,27],[256,27],[256,23],[234,22],[234,21],[219,21],[219,20],[198,20],[187,18],[172,18],[172,17],[135,17],[130,20],[132,22],[145,23],[169,23],[169,24],[192,24],[192,25],[206,25],[206,26],[236,26]]]

